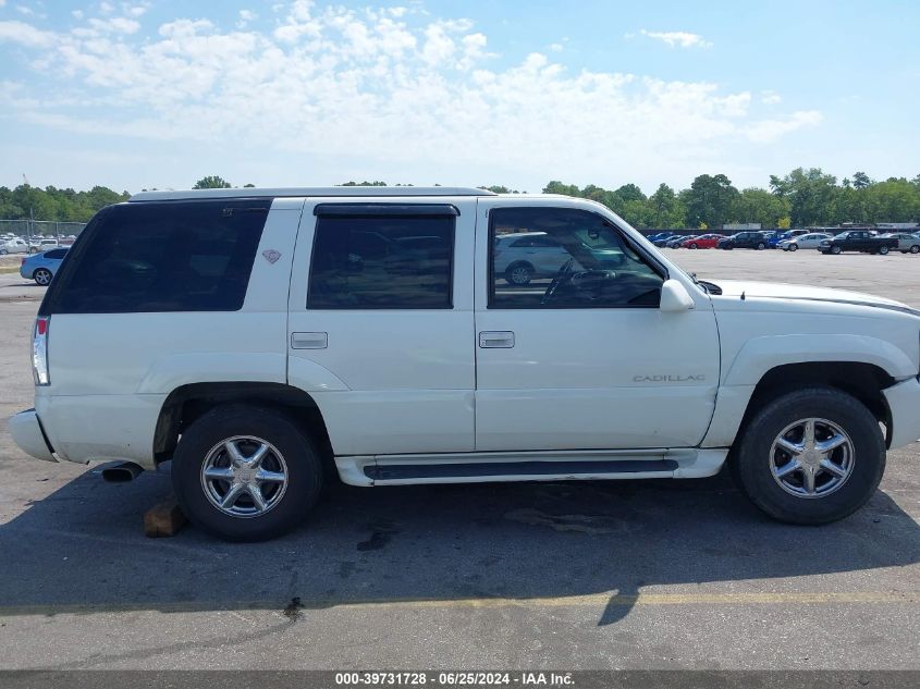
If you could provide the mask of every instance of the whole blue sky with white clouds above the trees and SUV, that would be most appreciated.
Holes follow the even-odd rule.
[[[920,2],[0,0],[0,185],[920,173]]]

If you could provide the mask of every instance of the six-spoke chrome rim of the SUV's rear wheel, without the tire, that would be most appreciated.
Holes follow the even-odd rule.
[[[281,502],[287,465],[271,444],[234,435],[214,445],[201,466],[201,488],[210,503],[231,517],[260,517]]]

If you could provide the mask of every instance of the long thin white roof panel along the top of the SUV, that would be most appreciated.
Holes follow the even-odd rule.
[[[174,201],[200,198],[258,198],[299,196],[498,196],[487,189],[455,186],[317,186],[291,188],[186,189],[142,192],[128,201]]]

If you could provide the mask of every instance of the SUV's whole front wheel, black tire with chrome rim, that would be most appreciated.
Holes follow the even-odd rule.
[[[769,516],[821,525],[843,519],[872,496],[885,470],[885,443],[859,401],[810,387],[761,408],[734,462],[744,492]]]

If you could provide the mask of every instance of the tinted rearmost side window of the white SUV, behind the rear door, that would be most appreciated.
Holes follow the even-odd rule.
[[[69,251],[42,312],[234,311],[271,199],[122,204]]]

